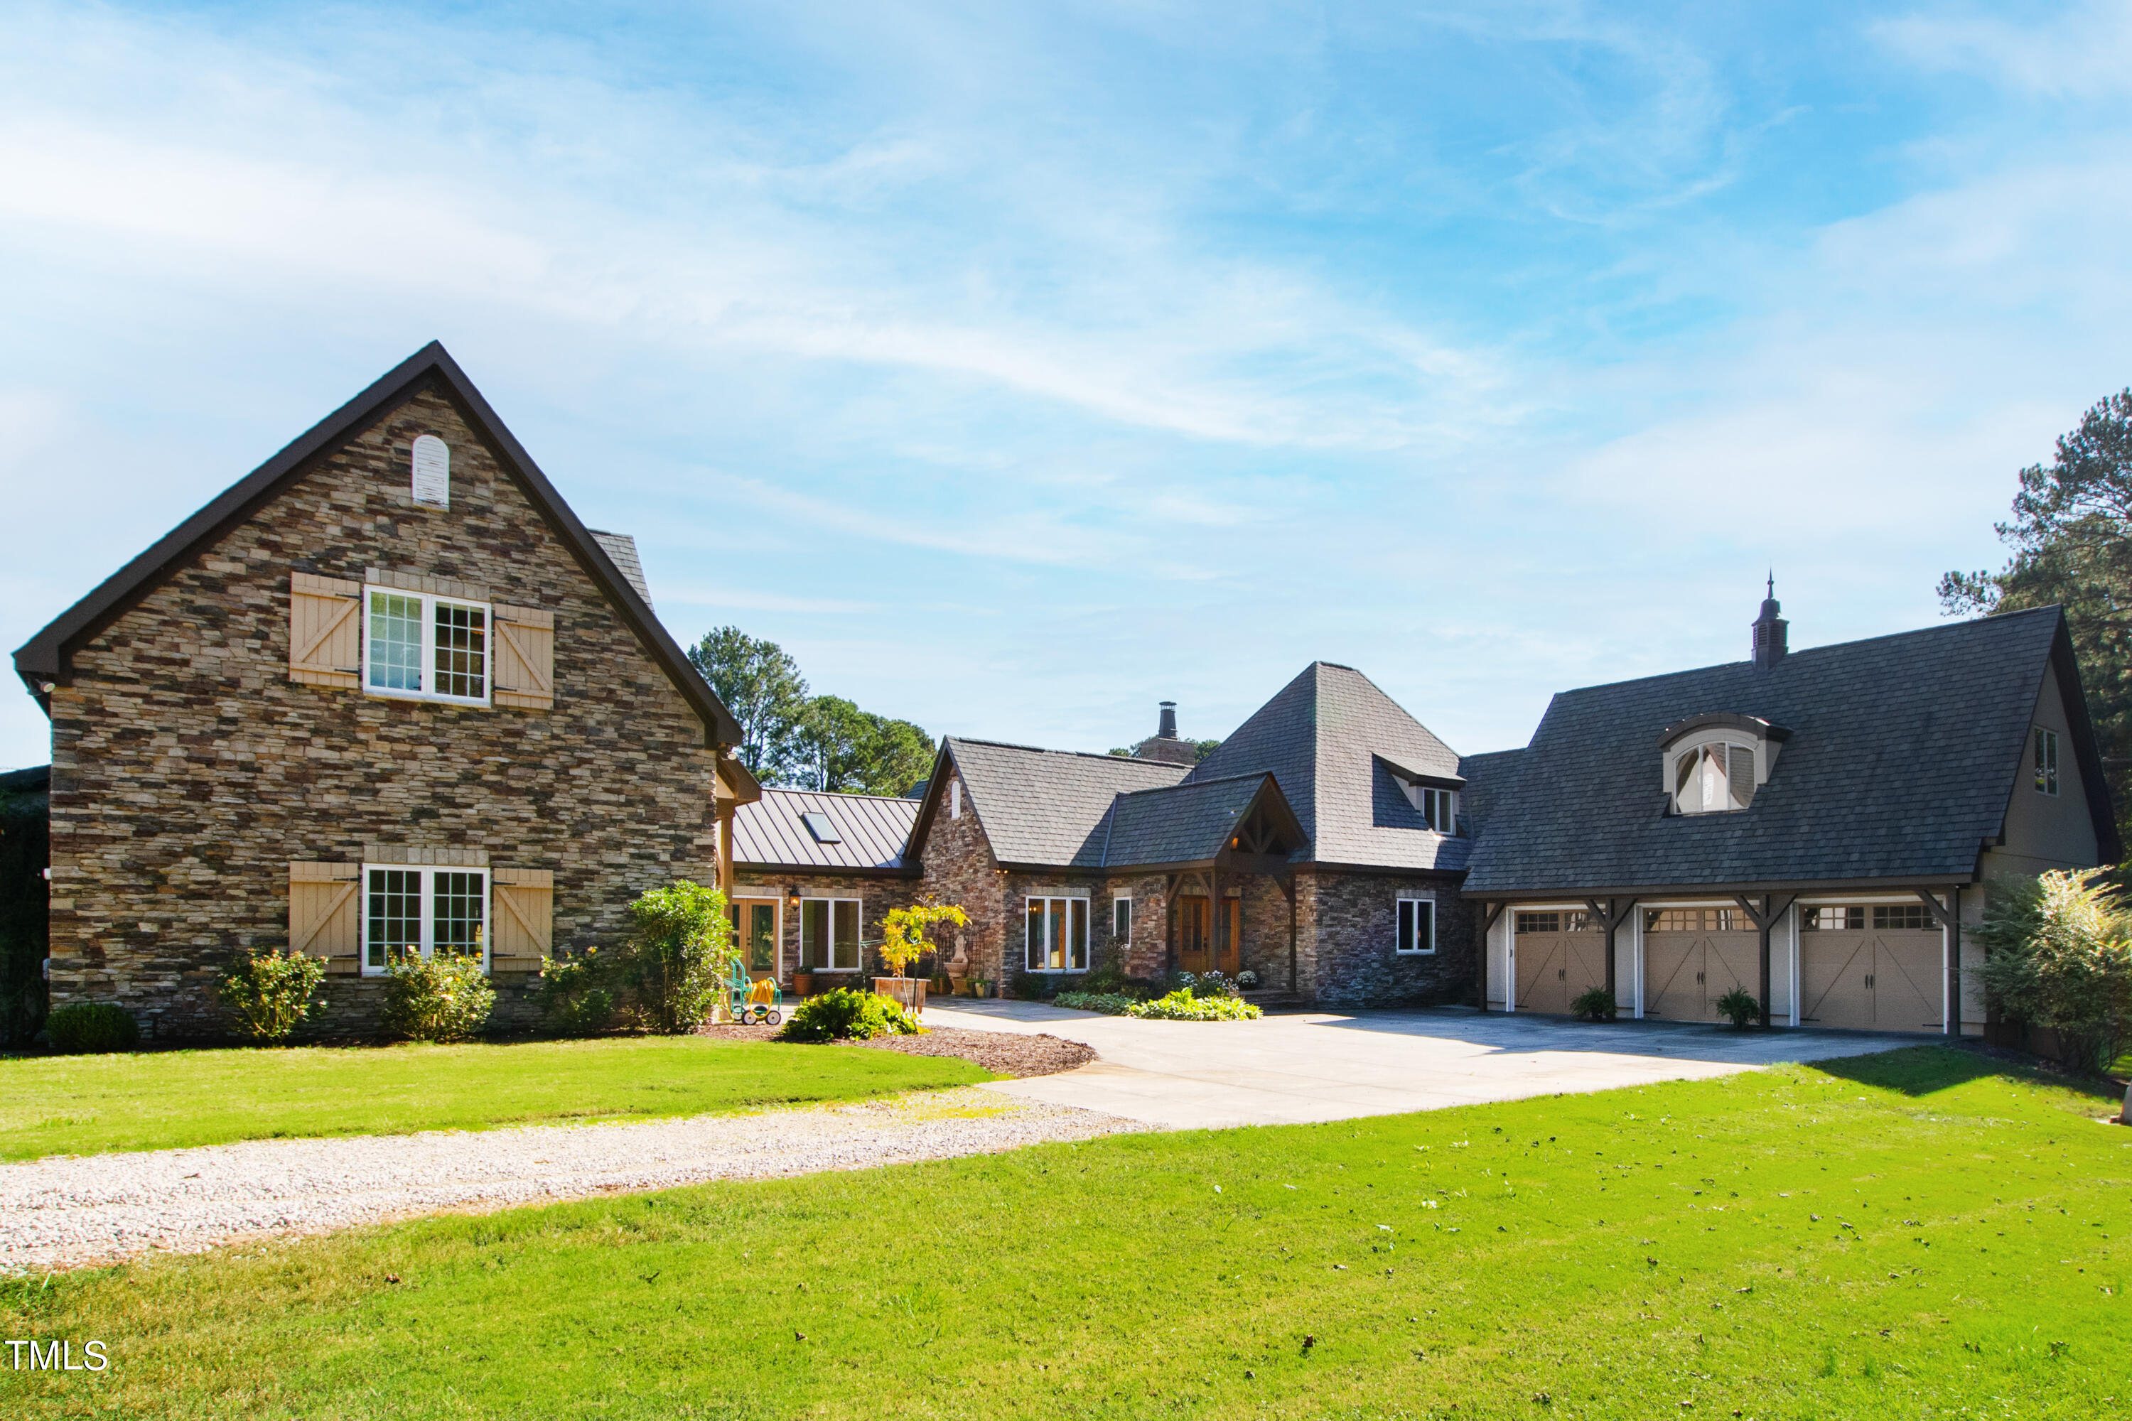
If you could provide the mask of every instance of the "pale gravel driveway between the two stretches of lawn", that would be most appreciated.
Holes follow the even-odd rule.
[[[642,1125],[256,1140],[0,1165],[0,1272],[200,1253],[446,1210],[704,1180],[866,1170],[1147,1129],[957,1087],[887,1101]]]

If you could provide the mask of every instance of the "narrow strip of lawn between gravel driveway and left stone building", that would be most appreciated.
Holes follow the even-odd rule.
[[[991,1076],[893,1050],[627,1038],[0,1059],[0,1159],[857,1099]]]

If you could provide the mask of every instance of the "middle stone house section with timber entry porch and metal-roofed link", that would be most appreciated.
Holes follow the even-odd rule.
[[[1109,954],[1328,1003],[1471,993],[1467,780],[1443,741],[1328,663],[1202,763],[1175,731],[1164,703],[1132,756],[947,737],[919,799],[763,790],[733,824],[750,969],[857,974],[881,914],[934,897],[970,914],[942,946],[998,982]]]

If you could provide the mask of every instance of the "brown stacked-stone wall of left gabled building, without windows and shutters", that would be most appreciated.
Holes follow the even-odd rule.
[[[409,496],[424,432],[450,445],[450,509]],[[369,569],[552,611],[554,709],[290,682],[290,573]],[[616,940],[644,888],[716,876],[701,718],[433,388],[85,641],[51,692],[51,1001],[119,1001],[164,1038],[217,1033],[215,971],[288,942],[290,861],[390,844],[552,869],[569,950]],[[503,1023],[522,991],[499,982]],[[371,980],[328,995],[328,1029],[375,1010]]]

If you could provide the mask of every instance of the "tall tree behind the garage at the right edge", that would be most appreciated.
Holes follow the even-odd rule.
[[[2021,471],[2013,522],[1996,528],[2013,560],[1947,573],[1940,603],[1951,616],[2066,609],[2119,833],[2132,833],[2132,390],[2081,415],[2049,467]]]

